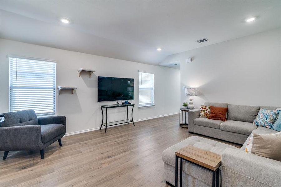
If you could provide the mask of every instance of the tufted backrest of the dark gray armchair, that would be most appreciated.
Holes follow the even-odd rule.
[[[4,113],[5,121],[1,127],[13,127],[22,125],[38,125],[38,120],[34,110],[22,110],[18,112]]]

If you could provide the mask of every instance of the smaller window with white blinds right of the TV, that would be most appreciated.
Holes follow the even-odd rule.
[[[138,105],[154,106],[154,74],[138,72]]]

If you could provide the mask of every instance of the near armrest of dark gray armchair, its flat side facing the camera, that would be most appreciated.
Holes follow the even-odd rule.
[[[0,127],[0,150],[39,150],[42,144],[41,126]]]

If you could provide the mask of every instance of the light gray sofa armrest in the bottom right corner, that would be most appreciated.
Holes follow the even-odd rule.
[[[221,165],[222,186],[280,186],[280,161],[226,148]]]

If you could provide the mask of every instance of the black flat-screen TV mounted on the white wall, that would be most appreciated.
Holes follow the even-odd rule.
[[[134,99],[134,79],[98,77],[98,102]]]

